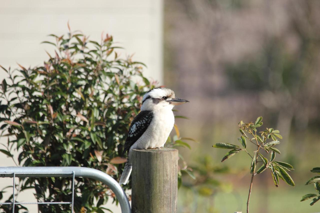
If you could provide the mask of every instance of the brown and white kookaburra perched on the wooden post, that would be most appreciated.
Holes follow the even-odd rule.
[[[162,148],[173,128],[173,106],[186,102],[189,101],[176,98],[167,88],[155,88],[143,96],[141,112],[133,119],[124,144],[123,154],[128,151],[128,160],[119,184],[126,184],[130,177],[132,149]]]

